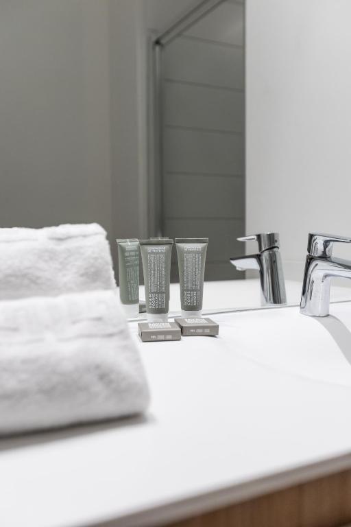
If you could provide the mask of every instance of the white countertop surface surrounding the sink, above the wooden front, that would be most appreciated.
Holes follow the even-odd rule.
[[[351,303],[337,309],[351,321]],[[264,313],[272,331],[289,313],[300,323],[297,307]],[[258,317],[213,315],[219,337],[178,342],[142,343],[130,323],[148,414],[1,440],[1,527],[154,527],[351,467],[351,382],[256,360]],[[318,347],[326,329],[302,318]]]

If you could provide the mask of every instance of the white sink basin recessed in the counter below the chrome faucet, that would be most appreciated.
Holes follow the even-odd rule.
[[[236,353],[276,371],[351,386],[351,303],[330,316],[303,316],[298,307],[222,314],[221,338]]]

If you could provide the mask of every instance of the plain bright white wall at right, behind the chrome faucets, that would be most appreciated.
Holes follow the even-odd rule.
[[[246,3],[247,233],[280,232],[288,277],[308,232],[351,235],[350,20],[349,0]]]

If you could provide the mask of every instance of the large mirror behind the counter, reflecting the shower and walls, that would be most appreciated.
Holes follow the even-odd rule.
[[[261,307],[258,270],[230,258],[258,253],[238,237],[279,233],[298,304],[308,232],[351,235],[349,11],[2,2],[0,226],[98,222],[116,270],[116,238],[208,237],[205,312]],[[174,249],[171,279],[172,312]],[[333,284],[332,300],[351,298]]]

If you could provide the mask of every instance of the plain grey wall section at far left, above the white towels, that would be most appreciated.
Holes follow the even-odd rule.
[[[110,230],[107,2],[1,2],[0,77],[0,225]]]

